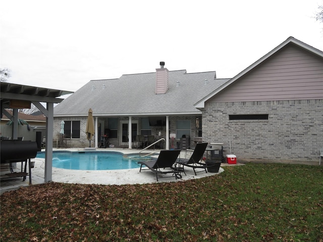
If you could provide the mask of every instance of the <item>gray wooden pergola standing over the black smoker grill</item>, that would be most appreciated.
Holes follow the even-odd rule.
[[[71,94],[70,91],[33,87],[8,82],[1,82],[1,112],[13,122],[12,139],[18,138],[18,109],[30,108],[33,103],[46,116],[46,150],[45,150],[45,183],[52,179],[52,141],[53,141],[53,110],[54,103],[64,99],[62,95]],[[41,103],[46,103],[44,107]],[[11,115],[6,108],[13,109]]]

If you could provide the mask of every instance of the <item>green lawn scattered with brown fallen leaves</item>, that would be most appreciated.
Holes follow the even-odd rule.
[[[149,185],[1,196],[1,241],[323,241],[323,167],[247,164]],[[148,171],[147,171],[148,172]]]

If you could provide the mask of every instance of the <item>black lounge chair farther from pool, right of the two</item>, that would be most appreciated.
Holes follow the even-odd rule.
[[[206,170],[207,164],[201,162],[201,159],[204,155],[206,147],[207,147],[207,143],[197,143],[195,146],[195,149],[193,151],[193,154],[189,159],[181,158],[176,161],[176,163],[179,165],[179,167],[182,166],[184,173],[185,173],[184,166],[188,166],[188,167],[193,168],[195,175],[197,172],[203,171],[203,170],[200,170],[200,171],[196,172],[195,169],[204,169],[205,172],[207,173],[207,170]],[[185,175],[186,175],[186,173],[185,173]]]

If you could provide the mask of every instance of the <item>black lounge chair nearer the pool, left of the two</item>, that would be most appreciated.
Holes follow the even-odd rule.
[[[183,171],[183,169],[177,168],[174,166],[175,161],[179,156],[180,152],[181,150],[161,150],[156,160],[139,161],[138,164],[141,164],[139,172],[141,170],[148,170],[148,169],[142,169],[142,165],[145,165],[154,173],[156,173],[157,181],[158,181],[158,174],[173,173],[173,175],[175,174],[175,179],[182,178],[182,175],[180,174],[180,172]],[[165,168],[170,168],[170,169],[165,169]],[[172,177],[172,176],[159,176],[159,178],[166,178],[166,177]]]

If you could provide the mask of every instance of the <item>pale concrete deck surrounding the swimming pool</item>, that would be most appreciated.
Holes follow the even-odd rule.
[[[56,149],[53,151],[84,151],[84,148],[71,149]],[[96,151],[117,151],[124,154],[138,153],[136,149],[123,148],[97,148]],[[151,152],[148,150],[147,152]],[[181,151],[180,157],[185,157],[185,151]],[[187,155],[190,157],[190,154]],[[44,159],[34,158],[35,166],[31,170],[32,185],[44,183]],[[222,163],[221,166],[226,166],[227,163]],[[20,171],[20,170],[17,170]],[[158,178],[156,181],[155,173],[150,170],[143,170],[139,172],[139,168],[121,169],[121,170],[69,170],[52,167],[52,181],[57,183],[74,183],[74,184],[100,184],[100,185],[126,185],[126,184],[147,184],[147,183],[164,183],[164,182],[180,182],[188,179],[201,178],[205,176],[217,175],[223,172],[224,169],[220,167],[218,173],[199,172],[194,174],[193,169],[186,167],[185,172],[182,173],[182,178],[175,179],[175,177]],[[1,172],[3,173],[3,172]],[[8,173],[6,171],[5,173]],[[166,174],[164,176],[167,176]],[[29,177],[23,181],[22,177],[1,180],[1,194],[6,191],[16,190],[18,188],[29,186]]]

